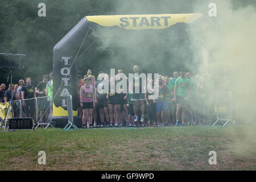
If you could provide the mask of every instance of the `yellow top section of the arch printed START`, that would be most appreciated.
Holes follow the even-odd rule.
[[[104,27],[118,26],[127,30],[164,29],[176,23],[191,23],[203,14],[100,15],[86,16],[89,22]]]

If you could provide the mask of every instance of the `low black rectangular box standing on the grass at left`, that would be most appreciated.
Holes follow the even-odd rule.
[[[9,118],[9,130],[33,130],[33,118]]]

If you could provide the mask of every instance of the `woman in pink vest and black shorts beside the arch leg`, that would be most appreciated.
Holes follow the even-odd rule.
[[[88,115],[89,123],[87,127],[92,127],[92,114],[94,107],[94,94],[91,84],[91,78],[85,78],[85,85],[80,89],[80,105],[82,107],[82,127],[86,127],[86,116]]]

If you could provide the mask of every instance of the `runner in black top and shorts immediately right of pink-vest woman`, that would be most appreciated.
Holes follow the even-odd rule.
[[[105,84],[103,82],[105,77],[105,74],[103,72],[100,72],[98,75],[98,78],[101,78],[101,80],[97,81],[95,84],[95,103],[97,105],[97,109],[100,110],[100,118],[101,118],[101,126],[109,127],[109,107],[108,107],[108,100],[106,99],[107,93],[104,91],[98,92],[98,90],[104,90]],[[106,118],[106,125],[104,123]]]

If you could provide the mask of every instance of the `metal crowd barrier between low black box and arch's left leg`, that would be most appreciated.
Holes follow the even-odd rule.
[[[38,122],[37,127],[42,126],[47,129],[48,126],[51,126],[52,123],[52,97],[38,97],[38,105],[37,105],[37,115],[38,115]]]

